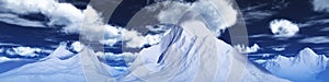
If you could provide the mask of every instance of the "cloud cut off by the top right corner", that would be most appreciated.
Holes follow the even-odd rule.
[[[329,0],[313,0],[313,7],[317,12],[329,12]]]

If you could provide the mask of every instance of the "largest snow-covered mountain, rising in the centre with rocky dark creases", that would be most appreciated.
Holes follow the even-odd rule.
[[[140,51],[123,81],[283,82],[217,39],[202,22],[174,27],[159,45]]]

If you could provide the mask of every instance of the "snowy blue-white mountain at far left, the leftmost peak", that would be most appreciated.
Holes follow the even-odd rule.
[[[66,57],[68,59],[61,59]],[[9,67],[10,65],[15,67]],[[66,45],[60,45],[53,54],[38,61],[8,60],[0,66],[8,67],[1,68],[2,82],[84,81],[79,56],[67,50]]]

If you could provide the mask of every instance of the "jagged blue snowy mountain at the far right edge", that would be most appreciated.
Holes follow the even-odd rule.
[[[317,55],[310,48],[304,48],[296,57],[279,55],[274,59],[258,60],[266,70],[282,78],[293,81],[317,81],[316,77],[325,71],[328,58]]]

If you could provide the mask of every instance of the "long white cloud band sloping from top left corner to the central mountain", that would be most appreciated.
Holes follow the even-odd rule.
[[[145,38],[136,31],[112,26],[103,23],[103,17],[92,7],[81,11],[69,3],[58,3],[57,0],[1,0],[0,21],[22,26],[44,27],[46,25],[65,25],[63,32],[80,34],[83,39],[99,42],[104,45],[114,45],[125,42],[126,47],[143,47]],[[41,13],[47,16],[48,23],[30,21],[19,15]],[[152,38],[155,39],[155,38]],[[149,42],[155,44],[155,42]],[[78,48],[76,48],[78,50]]]

